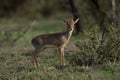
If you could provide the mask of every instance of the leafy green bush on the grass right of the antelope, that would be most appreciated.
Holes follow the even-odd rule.
[[[101,31],[94,26],[81,34],[76,43],[79,51],[70,57],[72,64],[90,66],[120,61],[120,28],[111,25],[105,25],[104,28]]]

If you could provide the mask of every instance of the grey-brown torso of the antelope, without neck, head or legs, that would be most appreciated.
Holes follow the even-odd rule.
[[[47,46],[62,46],[63,44],[67,43],[68,38],[63,33],[56,33],[56,34],[44,34],[39,35],[32,39],[32,44],[37,47],[47,47]]]

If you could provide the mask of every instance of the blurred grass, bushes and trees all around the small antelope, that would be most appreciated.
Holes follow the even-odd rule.
[[[119,0],[0,0],[0,80],[120,80]],[[31,39],[63,32],[80,18],[65,49],[46,49],[31,64]]]

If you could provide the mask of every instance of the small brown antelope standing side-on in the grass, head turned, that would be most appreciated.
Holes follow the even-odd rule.
[[[60,53],[60,64],[64,65],[64,48],[66,44],[69,42],[72,32],[74,30],[74,24],[79,21],[79,18],[75,21],[73,19],[64,20],[67,23],[67,30],[61,33],[53,33],[53,34],[44,34],[36,36],[32,39],[31,43],[35,48],[35,51],[32,54],[32,63],[37,68],[39,66],[37,62],[37,55],[39,52],[47,48],[48,45],[57,47]]]

